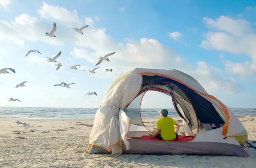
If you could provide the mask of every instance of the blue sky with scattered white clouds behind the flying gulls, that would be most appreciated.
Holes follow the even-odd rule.
[[[57,37],[44,36],[53,23]],[[69,28],[80,28],[83,35]],[[133,68],[178,69],[229,108],[256,108],[256,2],[0,0],[0,106],[98,108]],[[30,53],[29,50],[39,53]],[[61,51],[56,71],[54,57]],[[99,56],[116,52],[93,69]],[[66,69],[80,64],[78,70]],[[113,72],[105,72],[112,68]],[[27,81],[26,87],[15,88]],[[71,88],[54,87],[63,81]],[[87,92],[98,96],[84,96]],[[21,102],[8,101],[12,97]],[[148,92],[142,108],[173,108]]]

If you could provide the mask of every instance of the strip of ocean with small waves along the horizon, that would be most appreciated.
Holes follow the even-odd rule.
[[[230,108],[235,115],[256,114],[256,108]],[[93,119],[97,108],[46,108],[46,107],[0,107],[0,117],[36,119]],[[128,109],[130,117],[138,116],[139,109]],[[158,117],[159,109],[141,109],[142,117]],[[168,109],[169,116],[178,116],[175,109]]]

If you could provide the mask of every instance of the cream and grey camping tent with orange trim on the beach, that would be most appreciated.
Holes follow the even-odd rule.
[[[148,137],[150,131],[141,119],[140,104],[138,108],[129,108],[133,100],[142,99],[147,91],[171,96],[178,115],[193,136],[179,137],[178,141]],[[103,97],[95,115],[89,147],[92,147],[91,153],[112,152],[113,155],[249,156],[239,143],[244,141],[247,141],[247,132],[242,123],[193,77],[176,69],[135,68],[119,76]]]

